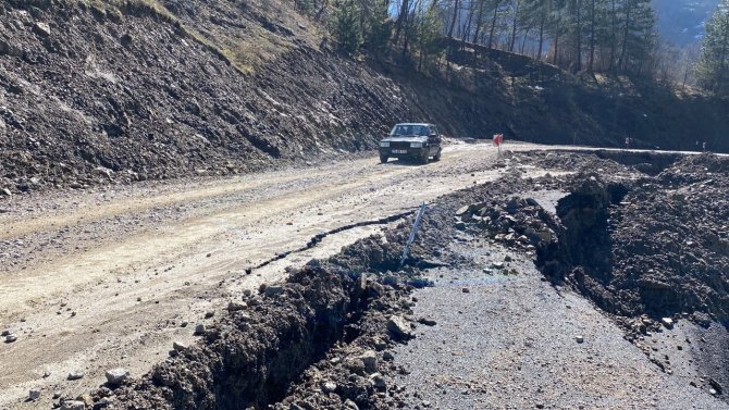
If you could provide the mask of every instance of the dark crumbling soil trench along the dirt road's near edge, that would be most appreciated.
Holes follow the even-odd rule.
[[[332,355],[337,344],[382,333],[376,343],[367,340],[382,350],[392,343],[383,318],[407,308],[408,285],[376,277],[397,266],[397,240],[366,239],[329,261],[292,272],[281,286],[262,286],[260,295],[231,302],[228,315],[205,331],[203,343],[172,355],[147,378],[116,390],[115,400],[128,409],[262,408],[283,399],[295,377]],[[417,250],[413,254],[410,261],[419,259]],[[382,360],[367,347],[366,341],[347,347],[348,369],[360,380],[341,387],[344,398],[361,408],[374,400],[366,376]],[[359,356],[354,355],[357,350]],[[102,396],[103,389],[95,393],[97,399]]]

